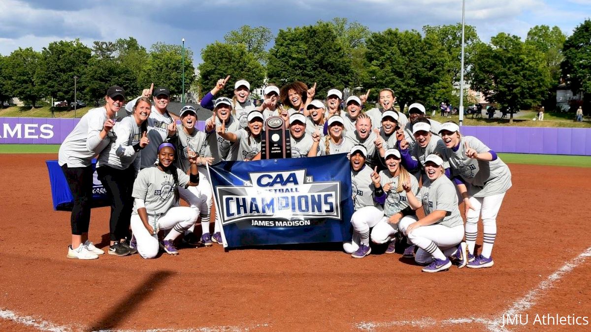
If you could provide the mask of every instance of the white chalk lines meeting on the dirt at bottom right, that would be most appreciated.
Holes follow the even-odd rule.
[[[541,297],[550,288],[554,287],[554,283],[559,281],[565,275],[573,271],[574,268],[584,263],[584,261],[591,256],[591,247],[580,253],[579,256],[566,262],[560,269],[549,275],[534,289],[527,292],[524,297],[519,298],[513,302],[511,306],[503,313],[498,314],[498,317],[505,317],[507,315],[515,315],[527,311],[536,304],[538,298]],[[502,326],[501,318],[498,320],[490,320],[483,317],[463,317],[463,318],[449,318],[446,320],[436,320],[434,318],[421,318],[418,320],[403,320],[403,321],[389,321],[389,322],[361,322],[356,323],[353,327],[363,331],[375,331],[377,328],[391,328],[391,327],[437,327],[437,326],[453,326],[461,324],[482,324],[487,330],[491,332],[506,332],[506,327]]]

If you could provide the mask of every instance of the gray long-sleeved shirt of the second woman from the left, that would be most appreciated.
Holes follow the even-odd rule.
[[[135,122],[133,115],[129,115],[115,123],[112,131],[116,138],[111,139],[109,145],[100,152],[96,167],[108,165],[117,170],[126,170],[133,164],[138,172],[141,151],[135,151],[134,145],[141,139],[141,126]]]

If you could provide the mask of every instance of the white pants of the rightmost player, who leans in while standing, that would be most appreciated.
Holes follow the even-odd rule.
[[[478,236],[478,217],[482,216],[483,243],[482,256],[491,257],[492,246],[496,239],[496,216],[501,209],[501,203],[505,193],[486,197],[470,197],[470,204],[474,210],[468,210],[466,213],[466,244],[472,255]]]

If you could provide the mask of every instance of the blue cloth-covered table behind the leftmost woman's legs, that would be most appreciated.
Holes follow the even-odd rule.
[[[56,211],[72,211],[74,206],[74,197],[70,186],[66,180],[66,175],[61,170],[57,160],[47,160],[47,170],[49,171],[49,182],[51,184],[51,198],[53,200],[53,209]],[[92,160],[92,207],[110,206],[111,200],[107,197],[107,193],[103,184],[100,183],[96,175],[96,160]]]

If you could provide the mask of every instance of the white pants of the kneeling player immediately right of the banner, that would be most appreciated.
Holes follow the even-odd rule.
[[[369,229],[378,224],[382,217],[384,217],[384,209],[381,206],[364,206],[355,211],[351,216],[353,239],[351,242],[343,242],[343,250],[346,253],[353,253],[359,249],[360,243],[369,245]]]

